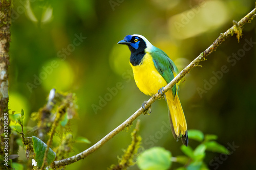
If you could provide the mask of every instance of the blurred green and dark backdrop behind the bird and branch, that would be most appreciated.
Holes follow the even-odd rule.
[[[13,4],[9,109],[23,108],[28,115],[45,105],[52,88],[75,92],[79,108],[71,121],[72,134],[87,137],[92,144],[150,98],[136,87],[130,51],[118,45],[119,40],[141,34],[182,70],[229,29],[233,19],[240,20],[255,7],[251,0],[24,0]],[[248,44],[256,42],[255,31],[254,19],[245,25],[239,43],[236,36],[228,38],[180,84],[188,129],[216,134],[225,147],[228,143],[239,146],[228,157],[207,153],[205,163],[210,169],[255,168],[256,47]],[[223,66],[225,73],[221,73]],[[153,104],[150,115],[139,118],[144,149],[161,146],[173,156],[182,154],[182,142],[166,131],[169,122],[164,100]],[[35,126],[29,116],[26,123]],[[106,169],[116,164],[117,155],[131,142],[130,133],[119,133],[67,169]],[[92,144],[75,143],[70,156]],[[191,147],[197,144],[189,141]],[[172,169],[179,166],[174,163]]]

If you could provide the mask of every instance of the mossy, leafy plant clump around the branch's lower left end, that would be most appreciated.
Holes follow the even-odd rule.
[[[12,112],[10,126],[15,134],[21,134],[23,147],[28,163],[35,160],[33,166],[27,164],[27,168],[44,169],[49,167],[55,159],[63,159],[69,156],[74,143],[73,135],[69,132],[69,122],[76,115],[76,96],[74,93],[55,92],[52,89],[47,104],[38,112],[31,115],[31,119],[37,123],[37,127],[24,125],[24,110],[20,113]],[[28,131],[25,133],[25,131]],[[30,136],[31,132],[34,136]],[[15,135],[14,134],[14,135]],[[59,136],[53,141],[53,136]],[[77,142],[90,143],[85,137],[77,137]],[[60,143],[60,144],[57,144]],[[21,155],[20,155],[21,156]],[[18,157],[18,156],[17,156]],[[20,169],[20,163],[13,162],[14,167]]]

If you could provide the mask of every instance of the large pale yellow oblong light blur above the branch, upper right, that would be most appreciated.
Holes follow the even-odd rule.
[[[216,10],[218,9],[218,12]],[[170,36],[186,39],[223,25],[229,19],[227,7],[221,1],[207,1],[169,18]]]

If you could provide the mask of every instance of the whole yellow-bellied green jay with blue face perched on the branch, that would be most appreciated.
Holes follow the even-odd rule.
[[[142,35],[127,35],[118,44],[125,44],[131,51],[130,65],[133,68],[136,85],[146,95],[162,93],[166,86],[178,74],[174,62],[159,48],[153,46]],[[159,90],[160,89],[160,90]],[[178,96],[178,85],[165,93],[170,127],[174,138],[187,146],[187,123]]]

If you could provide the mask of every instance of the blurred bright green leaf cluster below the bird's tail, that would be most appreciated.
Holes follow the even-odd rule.
[[[206,151],[223,153],[228,155],[229,151],[217,141],[218,136],[212,134],[204,135],[199,130],[189,130],[188,138],[197,140],[199,144],[195,149],[189,145],[181,146],[181,151],[185,155],[172,157],[172,153],[161,147],[154,147],[144,151],[137,159],[137,164],[141,170],[153,170],[153,169],[169,169],[172,162],[178,162],[183,164],[179,170],[185,169],[208,169],[207,165],[203,162]]]

